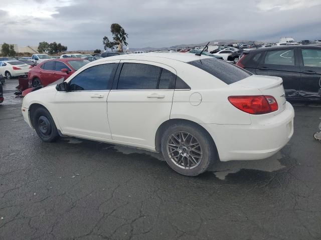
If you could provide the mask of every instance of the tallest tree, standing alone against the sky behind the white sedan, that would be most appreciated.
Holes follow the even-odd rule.
[[[105,50],[107,48],[114,49],[115,46],[118,46],[118,50],[122,52],[123,46],[128,45],[128,43],[126,42],[128,34],[125,32],[125,29],[122,28],[122,26],[119,25],[118,23],[112,23],[110,25],[110,32],[112,33],[113,41],[110,41],[107,36],[104,36],[103,45]]]

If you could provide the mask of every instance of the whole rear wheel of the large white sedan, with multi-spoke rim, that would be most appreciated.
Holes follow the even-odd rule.
[[[166,129],[161,142],[162,153],[175,171],[196,176],[217,159],[211,136],[202,127],[182,122]]]

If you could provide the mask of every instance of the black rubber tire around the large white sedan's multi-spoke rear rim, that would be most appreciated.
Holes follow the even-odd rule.
[[[186,167],[184,168],[183,166],[179,166],[178,162],[179,162],[180,157],[177,158],[176,163],[174,162],[175,159],[172,158],[173,159],[172,160],[169,157],[169,155],[171,154],[171,152],[169,152],[170,151],[169,149],[171,149],[172,146],[169,146],[168,143],[169,143],[169,141],[171,141],[171,139],[173,139],[172,134],[177,134],[177,132],[190,133],[193,137],[195,137],[196,141],[198,141],[201,146],[200,151],[203,153],[202,158],[200,158],[198,164],[195,164],[195,166],[193,166],[194,168],[188,169]],[[187,141],[189,141],[189,140],[187,140]],[[187,144],[186,144],[186,146],[187,146]],[[177,147],[177,146],[175,146],[175,147]],[[188,147],[188,148],[190,149],[190,147]],[[216,146],[215,146],[213,139],[209,135],[209,133],[201,126],[197,126],[196,124],[189,123],[189,122],[182,121],[182,122],[178,122],[178,123],[173,124],[172,126],[168,127],[162,136],[161,150],[162,150],[165,160],[170,165],[170,167],[173,170],[177,171],[178,173],[181,173],[181,174],[187,175],[187,176],[197,176],[197,175],[205,172],[209,168],[209,166],[211,166],[214,162],[216,162],[218,160]],[[185,150],[188,150],[188,149],[185,149]],[[188,154],[190,154],[190,151],[192,151],[192,150],[189,150]],[[178,153],[178,151],[177,151],[177,153]],[[181,160],[182,160],[182,158],[181,158]],[[193,164],[193,162],[189,160],[190,156],[185,156],[185,159],[187,160],[187,162],[189,162],[188,164],[190,164],[190,162]],[[194,157],[193,157],[193,159],[194,159]],[[184,162],[184,160],[183,160],[183,162]],[[184,162],[184,166],[186,165],[185,162]]]

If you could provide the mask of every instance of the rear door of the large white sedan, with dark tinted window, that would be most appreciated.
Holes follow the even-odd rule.
[[[118,69],[107,100],[112,139],[154,147],[158,126],[170,119],[176,71],[138,60]]]

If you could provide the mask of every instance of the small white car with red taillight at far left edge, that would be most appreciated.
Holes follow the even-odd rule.
[[[32,68],[19,60],[0,61],[0,73],[10,79],[15,76],[28,75],[28,72]]]

